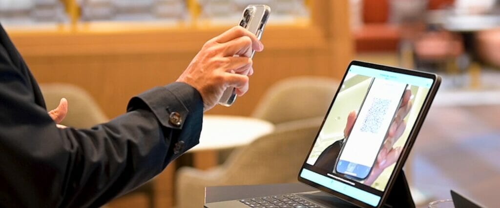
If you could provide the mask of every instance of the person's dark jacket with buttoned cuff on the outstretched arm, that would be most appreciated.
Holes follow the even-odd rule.
[[[91,129],[58,129],[6,56],[0,53],[0,207],[97,207],[198,143],[203,104],[187,84],[140,94],[126,114]],[[178,127],[169,123],[172,112],[181,115]]]

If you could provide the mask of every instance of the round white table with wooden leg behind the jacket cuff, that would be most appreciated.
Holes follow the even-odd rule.
[[[271,133],[270,122],[243,116],[205,115],[199,144],[191,148],[195,168],[206,170],[217,165],[217,150],[248,145]]]

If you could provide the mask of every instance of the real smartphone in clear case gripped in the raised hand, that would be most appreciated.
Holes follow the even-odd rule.
[[[248,31],[255,34],[258,39],[260,39],[260,37],[262,37],[262,33],[264,32],[265,23],[269,18],[270,12],[271,8],[268,5],[248,5],[243,10],[243,14],[241,15],[241,19],[239,20],[239,26],[244,27]],[[247,51],[247,54],[245,54],[245,56],[253,58],[253,54],[255,54],[255,51],[251,50]],[[218,104],[223,106],[231,106],[234,101],[236,101],[235,88],[228,87],[222,94],[222,97],[220,98]]]

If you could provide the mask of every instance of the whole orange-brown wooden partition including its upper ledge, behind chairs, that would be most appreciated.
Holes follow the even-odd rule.
[[[78,85],[89,91],[112,118],[125,112],[126,103],[132,96],[175,81],[204,41],[224,29],[14,32],[12,38],[40,83]],[[161,34],[165,38],[161,38]],[[181,39],[186,44],[180,44]],[[250,91],[238,98],[232,107],[216,107],[209,113],[249,115],[262,93],[286,77],[335,77],[327,63],[331,54],[327,42],[319,27],[271,27],[263,38],[264,51],[254,58],[255,74],[250,80]]]

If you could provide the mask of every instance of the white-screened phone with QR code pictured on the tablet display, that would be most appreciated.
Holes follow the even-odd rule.
[[[371,79],[335,166],[337,174],[359,180],[369,176],[408,87],[384,78]]]

